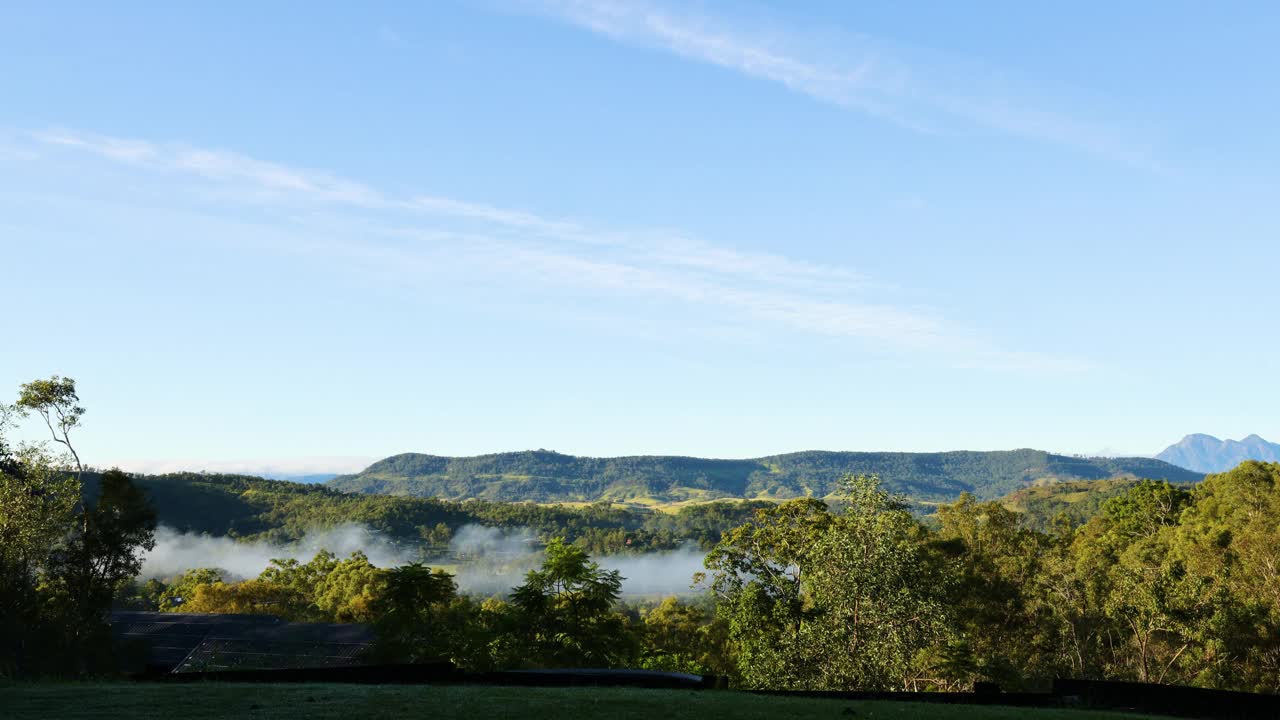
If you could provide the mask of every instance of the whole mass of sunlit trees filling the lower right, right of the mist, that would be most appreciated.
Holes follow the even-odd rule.
[[[1052,534],[970,496],[927,530],[869,483],[851,495],[844,515],[762,511],[708,556],[749,687],[1085,676],[1277,691],[1280,465],[1194,491],[1125,483]]]

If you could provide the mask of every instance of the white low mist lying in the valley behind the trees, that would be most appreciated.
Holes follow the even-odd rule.
[[[219,568],[234,579],[256,578],[274,559],[306,562],[321,550],[347,557],[362,551],[379,568],[413,561],[440,566],[454,574],[458,589],[468,594],[506,594],[524,582],[525,573],[543,561],[541,543],[529,528],[463,525],[448,551],[424,557],[417,546],[399,544],[365,525],[347,524],[307,533],[293,543],[236,541],[170,527],[156,529],[155,550],[143,556],[142,577],[172,578],[195,568]],[[704,552],[696,547],[650,553],[593,557],[602,568],[618,570],[625,596],[691,594],[692,575],[703,569]]]

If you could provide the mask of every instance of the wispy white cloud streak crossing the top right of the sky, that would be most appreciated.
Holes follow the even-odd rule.
[[[727,18],[645,0],[535,0],[535,12],[611,40],[653,47],[782,85],[822,102],[925,133],[966,127],[1053,143],[1157,169],[1142,142],[1053,111],[1007,73],[961,58],[906,50],[864,35],[737,27]]]

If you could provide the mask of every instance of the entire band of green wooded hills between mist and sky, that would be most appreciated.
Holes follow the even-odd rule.
[[[419,459],[425,461],[419,464]],[[435,474],[393,477],[424,466]],[[1165,473],[1167,469],[1174,473]],[[686,543],[708,548],[721,532],[768,505],[764,501],[828,496],[844,473],[878,473],[892,489],[920,502],[924,512],[931,502],[951,500],[963,491],[1001,497],[1037,529],[1048,529],[1060,512],[1083,521],[1107,497],[1129,487],[1133,475],[1201,479],[1149,460],[1079,460],[1015,451],[800,452],[760,460],[600,460],[553,452],[471,459],[399,455],[328,486],[205,473],[136,475],[136,482],[155,503],[160,521],[182,532],[288,542],[315,528],[358,523],[401,542],[442,544],[458,528],[480,524],[529,528],[544,538],[563,537],[591,552],[607,553]],[[1073,479],[1085,473],[1100,479]],[[95,493],[96,475],[86,480],[86,492]],[[453,498],[413,495],[445,495],[442,488],[448,488]],[[1004,488],[1012,492],[1002,493]],[[357,489],[364,492],[348,492]],[[462,500],[468,495],[480,498]],[[753,500],[736,501],[744,496]],[[669,512],[608,502],[639,497],[722,501],[689,502]],[[550,503],[599,498],[605,501]]]

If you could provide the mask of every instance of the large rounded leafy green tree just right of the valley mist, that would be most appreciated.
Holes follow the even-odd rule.
[[[874,477],[842,480],[846,510],[760,510],[708,555],[748,687],[902,688],[938,634],[940,578],[920,528]]]

